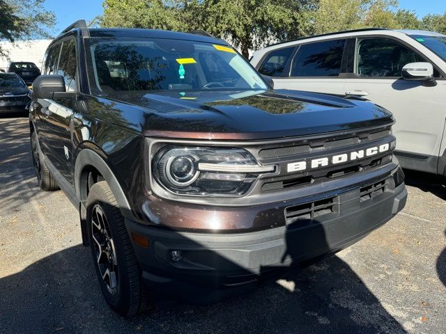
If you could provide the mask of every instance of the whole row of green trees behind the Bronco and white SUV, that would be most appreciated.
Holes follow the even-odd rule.
[[[0,0],[1,1],[1,0]],[[105,0],[100,25],[201,29],[241,49],[317,33],[382,27],[446,33],[446,13],[418,19],[398,0]]]

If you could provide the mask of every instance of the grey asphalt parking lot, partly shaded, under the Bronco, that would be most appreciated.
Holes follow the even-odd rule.
[[[131,320],[100,294],[77,211],[39,191],[26,118],[0,118],[0,333],[446,333],[446,180],[407,173],[406,208],[253,294]]]

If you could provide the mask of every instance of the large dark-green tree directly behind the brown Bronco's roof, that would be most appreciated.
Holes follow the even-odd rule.
[[[190,31],[202,29],[248,50],[305,33],[312,0],[105,0],[100,25]],[[305,22],[305,24],[302,24]]]

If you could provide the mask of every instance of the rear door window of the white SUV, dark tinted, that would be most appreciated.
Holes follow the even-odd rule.
[[[293,59],[291,77],[337,77],[346,40],[301,45]]]

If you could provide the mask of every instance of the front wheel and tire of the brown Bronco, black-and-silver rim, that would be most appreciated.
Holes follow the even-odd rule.
[[[107,182],[93,184],[86,200],[91,257],[110,307],[123,317],[141,309],[141,273],[124,218]]]

